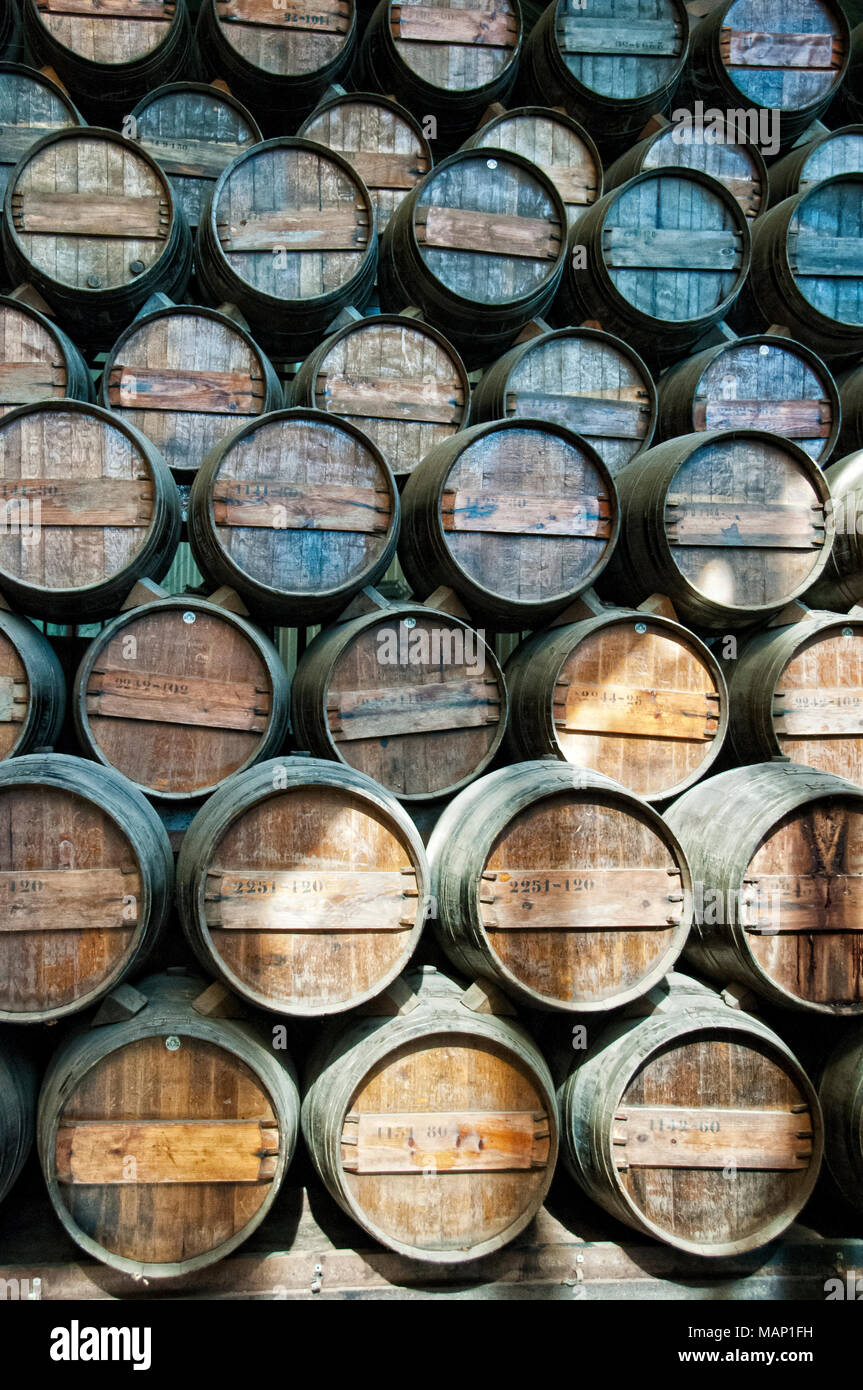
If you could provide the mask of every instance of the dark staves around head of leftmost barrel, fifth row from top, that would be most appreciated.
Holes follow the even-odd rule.
[[[181,535],[179,492],[167,463],[150,441],[101,406],[65,399],[17,406],[0,418],[0,434],[10,421],[15,423],[25,414],[69,411],[94,416],[106,425],[120,430],[143,455],[154,482],[153,517],[146,538],[132,563],[97,584],[75,589],[46,589],[0,571],[0,591],[14,602],[15,609],[49,623],[78,623],[82,616],[89,621],[101,621],[114,614],[138,580],[161,580],[168,573]]]

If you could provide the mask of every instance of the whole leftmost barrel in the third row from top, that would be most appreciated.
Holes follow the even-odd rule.
[[[165,175],[140,146],[96,126],[32,146],[7,183],[3,249],[11,274],[99,348],[157,291],[181,299],[192,268]]]

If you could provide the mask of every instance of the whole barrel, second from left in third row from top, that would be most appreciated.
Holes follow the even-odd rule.
[[[220,175],[196,271],[211,303],[236,304],[267,350],[296,360],[346,304],[363,307],[377,256],[371,196],[347,160],[285,138],[256,145]]]

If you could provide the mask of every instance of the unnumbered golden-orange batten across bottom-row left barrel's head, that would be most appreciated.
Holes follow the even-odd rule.
[[[261,1183],[275,1176],[275,1122],[67,1120],[57,1130],[58,1183]]]

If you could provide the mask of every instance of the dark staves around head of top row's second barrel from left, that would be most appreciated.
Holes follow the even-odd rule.
[[[203,0],[195,29],[200,67],[206,75],[222,78],[231,92],[250,108],[258,120],[267,138],[283,135],[297,125],[297,118],[306,117],[324,95],[328,86],[352,67],[357,51],[359,18],[357,7],[352,4],[350,29],[335,58],[315,72],[279,76],[249,63],[233,49],[221,32],[215,0]]]

